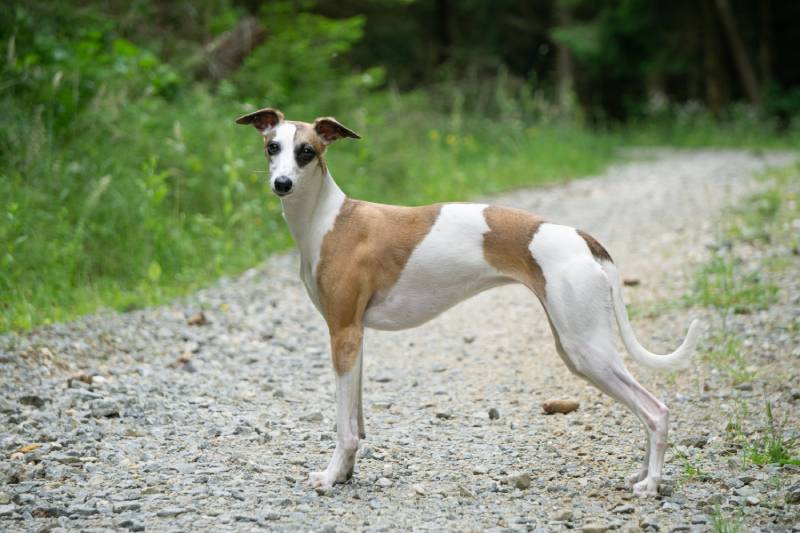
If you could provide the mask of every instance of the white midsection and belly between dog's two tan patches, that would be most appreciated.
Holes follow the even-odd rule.
[[[446,204],[430,233],[408,259],[400,279],[373,297],[364,325],[373,329],[419,326],[481,291],[510,283],[486,262],[489,231],[482,204]]]

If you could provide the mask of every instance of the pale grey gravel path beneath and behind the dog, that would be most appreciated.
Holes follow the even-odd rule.
[[[657,151],[491,201],[592,233],[640,280],[629,306],[646,309],[685,293],[714,214],[789,160]],[[707,531],[720,513],[745,530],[798,522],[800,505],[786,501],[800,469],[742,468],[723,439],[737,406],[763,410],[764,398],[797,427],[800,351],[770,329],[781,317],[741,317],[754,364],[768,360],[780,383],[737,389],[699,363],[663,376],[628,359],[670,406],[675,444],[664,494],[638,500],[623,487],[643,453],[638,421],[569,374],[538,302],[514,286],[415,330],[368,333],[355,477],[316,494],[306,477],[333,450],[333,374],[297,266],[276,256],[165,307],[0,337],[0,530]],[[781,316],[800,316],[794,267]],[[188,324],[201,309],[206,323]],[[667,351],[702,313],[633,322],[646,347]],[[546,416],[553,397],[581,407]],[[687,479],[678,455],[704,476]]]

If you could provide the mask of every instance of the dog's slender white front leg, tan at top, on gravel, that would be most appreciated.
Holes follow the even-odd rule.
[[[333,368],[336,371],[336,449],[328,467],[312,472],[311,486],[328,491],[353,475],[359,437],[363,434],[361,415],[361,363],[363,329],[331,330]]]

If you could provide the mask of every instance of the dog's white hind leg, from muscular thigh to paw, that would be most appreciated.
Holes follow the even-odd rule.
[[[545,308],[559,353],[573,373],[620,401],[642,422],[647,433],[646,468],[636,474],[633,491],[655,495],[666,450],[668,411],[630,375],[614,346],[608,278],[591,258],[578,258],[546,274]]]

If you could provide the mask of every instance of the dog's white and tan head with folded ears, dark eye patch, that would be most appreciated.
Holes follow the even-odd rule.
[[[333,141],[361,138],[333,117],[321,117],[309,124],[283,120],[283,113],[272,108],[248,113],[236,119],[236,123],[252,124],[264,137],[270,185],[281,197],[305,188],[308,176],[316,170],[321,170],[317,174],[325,174],[323,155]]]

